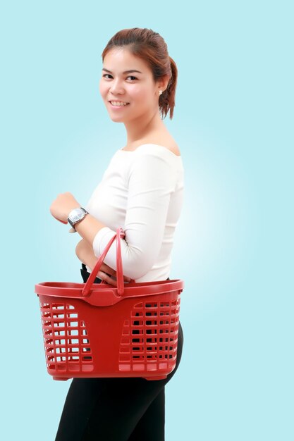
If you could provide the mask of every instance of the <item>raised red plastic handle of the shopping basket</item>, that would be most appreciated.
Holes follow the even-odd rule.
[[[125,232],[123,231],[123,228],[118,227],[116,230],[116,235],[114,237],[111,237],[111,240],[109,240],[109,243],[104,248],[104,251],[102,255],[99,257],[99,260],[97,261],[96,265],[92,269],[92,272],[89,275],[89,278],[87,279],[85,283],[85,287],[82,289],[82,295],[87,296],[90,293],[90,290],[92,288],[92,285],[94,284],[94,280],[96,278],[96,275],[98,271],[100,270],[100,267],[102,266],[102,263],[105,259],[106,254],[109,251],[109,248],[111,247],[112,243],[116,239],[116,275],[117,275],[117,293],[121,297],[124,292],[124,284],[123,284],[123,262],[121,260],[121,238],[125,237]]]

